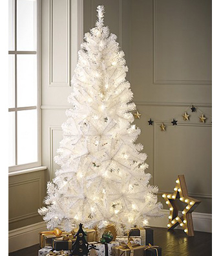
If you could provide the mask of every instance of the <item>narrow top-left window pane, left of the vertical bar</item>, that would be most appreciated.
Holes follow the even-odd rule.
[[[15,49],[15,1],[8,0],[8,51]]]

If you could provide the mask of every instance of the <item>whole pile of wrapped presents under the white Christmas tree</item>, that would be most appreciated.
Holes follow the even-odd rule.
[[[162,248],[154,245],[153,229],[151,227],[134,227],[125,236],[113,235],[112,240],[98,242],[95,229],[83,229],[87,234],[85,239],[93,249],[90,256],[162,256]],[[78,229],[71,233],[56,228],[54,231],[40,233],[40,250],[38,256],[68,256],[76,242]]]

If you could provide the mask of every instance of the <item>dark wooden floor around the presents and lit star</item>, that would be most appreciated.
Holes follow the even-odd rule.
[[[153,227],[154,245],[162,248],[162,256],[211,256],[212,234],[195,231],[195,237],[187,237],[181,229],[167,231]],[[9,256],[37,256],[39,245],[9,253]]]

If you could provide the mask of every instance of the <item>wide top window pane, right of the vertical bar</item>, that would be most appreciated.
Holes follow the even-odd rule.
[[[36,0],[17,0],[17,51],[36,51]]]

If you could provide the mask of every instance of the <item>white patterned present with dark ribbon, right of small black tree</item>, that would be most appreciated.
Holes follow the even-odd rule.
[[[101,244],[100,242],[89,242],[89,244],[96,245],[96,249],[90,250],[90,256],[112,256],[112,248],[114,248],[114,246],[119,246],[119,242],[116,241],[109,242],[108,244]]]

